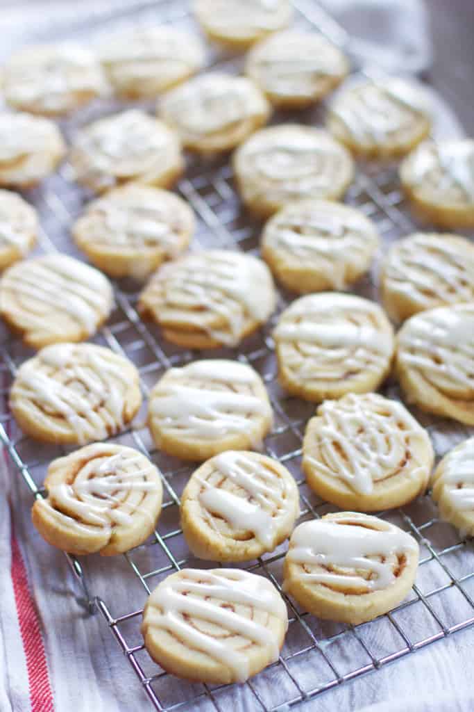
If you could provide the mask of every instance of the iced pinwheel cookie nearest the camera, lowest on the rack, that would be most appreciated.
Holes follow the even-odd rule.
[[[141,632],[164,670],[196,682],[245,682],[278,660],[288,628],[284,600],[263,576],[183,569],[161,581]]]

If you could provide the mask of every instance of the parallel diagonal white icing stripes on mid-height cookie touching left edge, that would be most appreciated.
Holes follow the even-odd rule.
[[[11,313],[25,328],[44,326],[45,313],[67,313],[88,333],[112,308],[112,288],[102,273],[67,255],[49,255],[18,263],[6,272],[1,288],[16,300]]]

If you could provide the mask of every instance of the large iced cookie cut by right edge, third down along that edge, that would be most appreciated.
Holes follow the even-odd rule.
[[[415,314],[397,335],[395,370],[406,400],[474,425],[474,303]]]

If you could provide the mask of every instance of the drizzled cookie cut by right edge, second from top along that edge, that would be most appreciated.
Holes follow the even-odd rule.
[[[458,235],[416,233],[382,263],[384,307],[397,322],[434,307],[474,302],[474,244]]]

